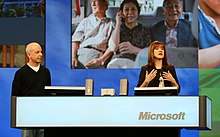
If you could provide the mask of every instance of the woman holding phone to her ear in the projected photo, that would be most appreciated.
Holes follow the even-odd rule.
[[[106,60],[114,53],[107,68],[133,68],[137,53],[151,43],[150,31],[138,23],[139,14],[140,6],[137,0],[124,0],[116,15],[116,25],[109,39],[109,47],[103,56],[87,65],[100,62],[106,64]]]

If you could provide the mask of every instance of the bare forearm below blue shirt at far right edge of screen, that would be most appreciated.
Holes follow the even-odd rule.
[[[216,68],[220,66],[220,44],[206,48],[199,49],[199,68]]]

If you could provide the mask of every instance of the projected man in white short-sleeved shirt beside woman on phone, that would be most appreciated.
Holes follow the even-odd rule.
[[[81,21],[72,36],[72,68],[100,68],[87,63],[99,58],[108,47],[114,21],[106,17],[107,0],[90,0],[92,14]]]

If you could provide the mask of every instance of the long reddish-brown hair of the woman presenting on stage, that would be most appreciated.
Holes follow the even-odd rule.
[[[148,48],[148,65],[155,66],[154,49],[156,49],[156,47],[158,46],[162,46],[164,48],[164,58],[162,59],[162,65],[163,67],[167,67],[168,66],[167,51],[166,51],[164,43],[161,41],[154,41],[150,44],[150,47]]]

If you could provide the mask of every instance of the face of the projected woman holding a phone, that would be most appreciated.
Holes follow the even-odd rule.
[[[125,3],[122,12],[127,23],[135,23],[137,21],[138,9],[134,3]]]

